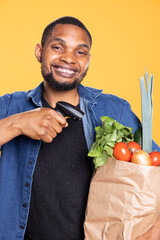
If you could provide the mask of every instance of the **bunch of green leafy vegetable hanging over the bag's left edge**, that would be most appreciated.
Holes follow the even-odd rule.
[[[88,156],[93,157],[95,168],[104,165],[108,157],[113,157],[113,148],[117,142],[130,142],[134,139],[132,128],[125,127],[113,118],[102,116],[102,127],[95,128],[96,140]]]

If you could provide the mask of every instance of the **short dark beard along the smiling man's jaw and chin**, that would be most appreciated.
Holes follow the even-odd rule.
[[[56,89],[58,91],[68,91],[68,90],[73,90],[75,88],[78,88],[79,84],[83,80],[83,78],[86,76],[88,71],[88,68],[86,71],[83,73],[83,75],[80,78],[75,78],[73,82],[71,83],[63,83],[63,82],[58,82],[55,77],[53,76],[52,72],[50,73],[45,73],[44,68],[41,66],[41,73],[44,78],[44,80],[49,84],[49,86],[52,89]]]

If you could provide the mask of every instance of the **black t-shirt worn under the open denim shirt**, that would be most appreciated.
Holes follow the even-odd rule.
[[[50,107],[42,99],[44,107]],[[82,121],[69,126],[40,148],[33,176],[30,212],[24,240],[83,240],[83,222],[91,160]]]

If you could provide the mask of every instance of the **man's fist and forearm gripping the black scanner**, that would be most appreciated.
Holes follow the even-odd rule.
[[[0,121],[0,145],[19,135],[50,143],[67,126],[66,119],[50,108],[15,114]]]

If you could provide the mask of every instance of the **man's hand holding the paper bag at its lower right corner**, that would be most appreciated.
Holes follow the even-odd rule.
[[[136,240],[160,240],[160,216],[151,229]]]

